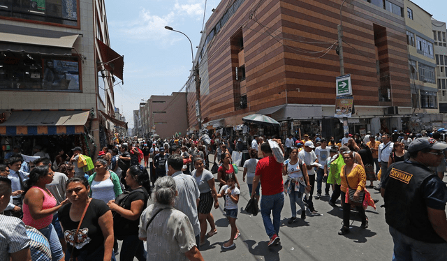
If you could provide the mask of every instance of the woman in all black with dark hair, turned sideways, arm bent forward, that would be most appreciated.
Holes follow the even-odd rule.
[[[129,167],[124,177],[129,188],[117,200],[110,200],[107,205],[115,211],[113,216],[114,235],[122,240],[121,261],[145,261],[147,252],[138,239],[138,224],[142,211],[146,208],[149,192],[151,191],[149,174],[142,165]]]

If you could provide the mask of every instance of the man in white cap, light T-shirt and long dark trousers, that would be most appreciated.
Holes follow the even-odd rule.
[[[314,185],[315,185],[315,167],[318,166],[318,158],[314,152],[314,143],[310,140],[305,142],[305,148],[298,153],[298,158],[306,164],[307,175],[309,176],[309,184],[311,186],[309,198],[305,198],[304,201],[307,203],[309,211],[313,215],[316,215],[318,211],[314,208],[314,202],[312,202],[312,195],[314,195]]]

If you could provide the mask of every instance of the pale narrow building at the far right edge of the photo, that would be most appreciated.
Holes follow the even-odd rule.
[[[437,64],[437,84],[439,112],[447,112],[447,39],[446,39],[446,23],[432,19],[432,30],[434,40],[434,57]]]

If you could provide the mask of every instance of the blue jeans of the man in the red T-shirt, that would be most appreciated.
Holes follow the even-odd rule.
[[[261,197],[261,216],[263,216],[265,232],[267,232],[270,238],[274,234],[279,234],[282,207],[284,207],[284,193],[282,192]],[[273,214],[273,223],[270,218],[270,212]]]

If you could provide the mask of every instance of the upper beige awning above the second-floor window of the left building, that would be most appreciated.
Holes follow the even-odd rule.
[[[71,55],[78,33],[2,24],[0,51]]]

